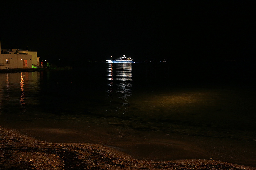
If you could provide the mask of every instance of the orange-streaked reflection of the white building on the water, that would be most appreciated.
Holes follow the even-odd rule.
[[[39,104],[39,72],[0,74],[0,105],[26,111],[27,105]]]

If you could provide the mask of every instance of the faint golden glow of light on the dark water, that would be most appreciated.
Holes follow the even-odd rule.
[[[214,115],[218,109],[216,101],[215,93],[193,89],[183,92],[175,89],[169,89],[166,92],[163,90],[147,92],[134,96],[132,99],[141,115],[152,118],[161,115],[161,119],[171,120],[179,119],[179,117],[184,120],[194,119],[194,115],[197,115],[196,119],[198,119],[202,114]]]

